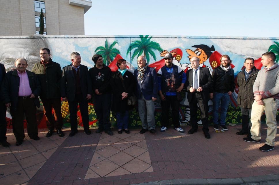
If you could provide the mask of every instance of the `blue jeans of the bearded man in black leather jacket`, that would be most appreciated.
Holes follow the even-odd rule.
[[[226,124],[226,116],[230,103],[230,95],[228,93],[213,93],[213,123],[218,125],[218,110],[221,102],[221,112],[220,112],[220,125]]]

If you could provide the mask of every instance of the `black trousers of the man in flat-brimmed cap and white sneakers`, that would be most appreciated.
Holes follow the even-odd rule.
[[[179,128],[179,101],[177,99],[177,96],[165,96],[166,100],[161,100],[162,105],[162,126],[169,127],[169,107],[171,107],[171,113],[172,113],[172,124],[174,125],[174,128]]]

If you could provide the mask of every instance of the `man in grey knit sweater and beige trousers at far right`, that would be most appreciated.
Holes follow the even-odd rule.
[[[253,91],[255,101],[251,114],[251,137],[243,138],[247,142],[261,142],[261,116],[265,112],[267,124],[267,138],[261,151],[274,149],[277,132],[276,113],[279,106],[279,65],[275,63],[273,52],[263,53],[261,63],[265,68],[259,71]]]

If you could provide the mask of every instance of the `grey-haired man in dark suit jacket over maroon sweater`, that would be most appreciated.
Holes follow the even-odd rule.
[[[77,52],[71,53],[70,65],[62,70],[61,97],[63,101],[68,100],[70,111],[71,132],[69,136],[74,136],[78,132],[77,111],[80,105],[84,132],[91,134],[89,130],[88,102],[91,99],[92,86],[88,73],[88,68],[81,65],[81,57]]]

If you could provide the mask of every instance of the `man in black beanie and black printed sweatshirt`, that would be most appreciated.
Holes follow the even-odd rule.
[[[110,124],[110,107],[111,107],[111,90],[110,68],[103,63],[103,57],[95,54],[92,57],[95,63],[94,67],[89,70],[93,87],[93,104],[98,119],[98,129],[96,133],[103,130],[108,135],[113,135]]]

